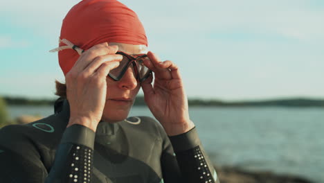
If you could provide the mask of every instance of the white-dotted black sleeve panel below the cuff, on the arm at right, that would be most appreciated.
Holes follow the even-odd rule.
[[[188,182],[215,182],[199,146],[190,150],[177,152],[176,155],[178,164],[181,167],[181,172],[183,173],[184,177],[188,177]]]

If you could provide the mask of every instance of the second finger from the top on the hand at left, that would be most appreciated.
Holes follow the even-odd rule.
[[[123,60],[123,55],[118,55],[118,54],[114,54],[114,55],[101,55],[96,57],[89,65],[86,69],[84,69],[84,71],[82,71],[82,73],[84,74],[84,76],[90,76],[91,74],[93,74],[93,72],[95,72],[96,70],[98,70],[98,68],[104,63],[107,62],[107,64],[109,64],[110,62],[120,62],[121,60]]]

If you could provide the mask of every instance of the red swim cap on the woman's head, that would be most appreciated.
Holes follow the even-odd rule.
[[[80,1],[64,18],[60,39],[69,40],[83,50],[102,42],[147,46],[145,30],[136,13],[116,0]],[[58,56],[66,75],[80,55],[73,49],[66,49],[59,51]]]

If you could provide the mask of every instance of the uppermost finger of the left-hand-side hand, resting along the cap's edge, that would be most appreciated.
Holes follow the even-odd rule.
[[[115,54],[118,51],[118,46],[108,46],[107,42],[102,44],[96,44],[92,46],[89,50],[82,53],[80,58],[75,62],[73,66],[73,70],[83,71],[92,61],[94,58],[101,56],[101,55],[109,55]]]

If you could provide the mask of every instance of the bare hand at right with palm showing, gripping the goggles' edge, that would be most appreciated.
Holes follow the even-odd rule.
[[[141,84],[147,106],[169,136],[188,132],[195,125],[189,118],[188,100],[177,65],[170,60],[161,62],[150,51],[147,56],[150,60],[144,64],[155,76],[154,86],[152,76]]]

